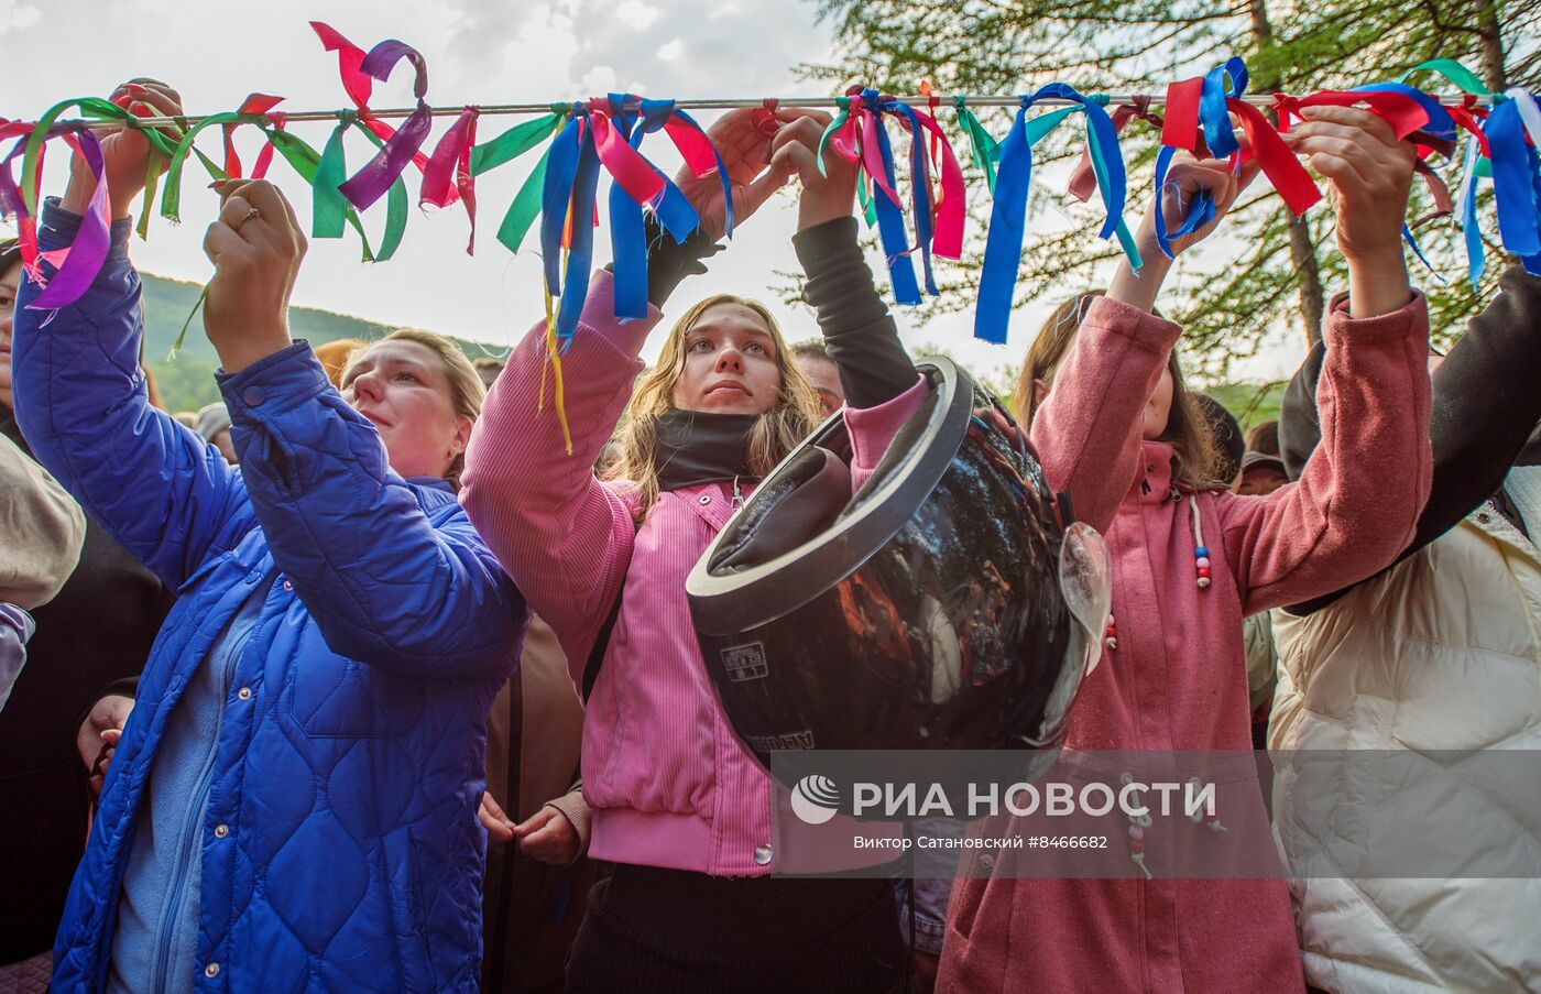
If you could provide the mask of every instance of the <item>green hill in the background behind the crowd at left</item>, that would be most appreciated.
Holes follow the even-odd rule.
[[[180,279],[166,279],[151,273],[140,273],[145,287],[145,365],[156,378],[160,399],[170,411],[196,411],[205,404],[219,401],[219,388],[214,385],[214,368],[219,367],[219,356],[203,334],[202,316],[193,317],[182,351],[174,359],[168,359],[171,345],[182,331],[182,324],[193,313],[197,296],[203,290],[200,284]],[[364,341],[378,339],[388,328],[373,321],[334,314],[313,307],[290,308],[290,333],[294,337],[310,339],[313,345],[334,342],[344,337]],[[458,342],[465,354],[484,356],[488,351],[498,354],[502,348],[476,342]]]

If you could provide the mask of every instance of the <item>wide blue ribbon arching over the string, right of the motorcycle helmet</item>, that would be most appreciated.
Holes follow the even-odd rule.
[[[1028,120],[1032,105],[1046,97],[1073,103]],[[1032,182],[1032,146],[1071,114],[1083,114],[1086,119],[1086,148],[1106,208],[1106,219],[1099,234],[1103,239],[1117,236],[1130,265],[1136,270],[1140,267],[1140,253],[1123,223],[1125,170],[1113,119],[1100,103],[1065,83],[1042,86],[1032,96],[1022,97],[1011,131],[1000,143],[1000,171],[995,177],[995,205],[989,214],[989,233],[985,240],[985,262],[980,268],[974,337],[997,345],[1006,342],[1017,267],[1022,262],[1028,190]]]

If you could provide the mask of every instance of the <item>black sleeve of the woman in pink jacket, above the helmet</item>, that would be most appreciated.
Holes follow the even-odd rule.
[[[915,364],[898,341],[894,317],[861,256],[857,219],[837,217],[798,231],[792,248],[807,276],[803,299],[818,316],[846,404],[877,407],[914,387]]]

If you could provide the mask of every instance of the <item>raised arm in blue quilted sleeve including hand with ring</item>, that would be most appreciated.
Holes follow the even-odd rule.
[[[284,196],[262,180],[222,196],[203,325],[274,564],[333,652],[415,677],[504,680],[529,621],[519,592],[448,495],[419,498],[376,427],[290,341],[305,237]]]

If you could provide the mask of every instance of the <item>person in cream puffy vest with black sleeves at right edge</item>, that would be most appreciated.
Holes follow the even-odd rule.
[[[1541,749],[1541,279],[1515,267],[1501,285],[1433,373],[1433,493],[1413,542],[1376,576],[1273,612],[1274,835],[1313,989],[1541,991],[1533,763],[1489,754],[1482,769],[1512,783],[1465,777],[1435,803],[1438,777],[1399,791],[1364,781],[1321,791],[1294,761],[1356,749],[1432,761],[1447,758],[1441,751]],[[1318,347],[1285,395],[1291,475],[1318,441],[1321,358]],[[1455,826],[1470,852],[1533,869],[1510,878],[1321,872],[1385,826],[1422,838]]]

